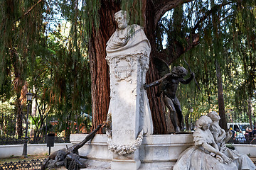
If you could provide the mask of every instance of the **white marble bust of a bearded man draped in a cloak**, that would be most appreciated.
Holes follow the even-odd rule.
[[[149,40],[146,38],[143,28],[137,24],[128,25],[129,14],[127,11],[118,11],[114,14],[114,18],[118,28],[107,42],[107,56],[135,54],[142,50],[150,52]]]

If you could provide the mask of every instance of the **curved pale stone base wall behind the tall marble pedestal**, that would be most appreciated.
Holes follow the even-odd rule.
[[[87,134],[72,134],[70,142],[77,144],[85,139]],[[144,136],[142,145],[139,147],[139,161],[119,162],[113,159],[113,153],[107,148],[107,135],[97,134],[92,141],[87,142],[79,149],[80,156],[86,156],[85,161],[88,169],[172,169],[178,156],[186,148],[193,145],[191,134],[179,135],[149,135]],[[134,168],[135,167],[135,168]]]

